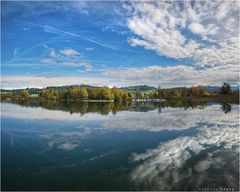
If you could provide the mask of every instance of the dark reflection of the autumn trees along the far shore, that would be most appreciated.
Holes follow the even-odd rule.
[[[161,113],[164,108],[183,108],[183,109],[204,109],[208,103],[204,101],[193,100],[176,100],[160,103],[150,102],[108,102],[108,103],[88,103],[88,102],[73,102],[73,101],[39,101],[39,100],[15,100],[11,103],[16,103],[26,107],[42,107],[49,110],[61,110],[72,113],[80,113],[81,116],[87,113],[99,113],[108,115],[109,113],[117,114],[120,111],[139,111],[148,112],[158,109]]]

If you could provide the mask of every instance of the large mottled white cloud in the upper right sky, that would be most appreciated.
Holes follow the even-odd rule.
[[[237,1],[133,3],[127,24],[135,36],[129,42],[200,65],[236,64],[238,10]]]

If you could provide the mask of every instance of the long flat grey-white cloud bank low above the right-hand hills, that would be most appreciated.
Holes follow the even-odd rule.
[[[207,52],[207,50],[205,50]],[[203,53],[202,53],[203,54]],[[211,52],[206,53],[210,55]],[[202,60],[210,60],[211,57],[204,56]],[[103,74],[125,80],[129,84],[148,84],[162,87],[192,86],[192,85],[216,85],[227,81],[232,85],[238,84],[239,67],[226,64],[212,68],[196,68],[194,66],[148,66],[125,69],[106,69]]]

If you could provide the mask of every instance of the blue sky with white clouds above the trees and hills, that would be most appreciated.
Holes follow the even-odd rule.
[[[1,87],[239,85],[237,1],[1,1]]]

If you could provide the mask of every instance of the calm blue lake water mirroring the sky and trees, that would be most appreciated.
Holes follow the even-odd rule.
[[[2,190],[239,190],[238,110],[3,102]]]

